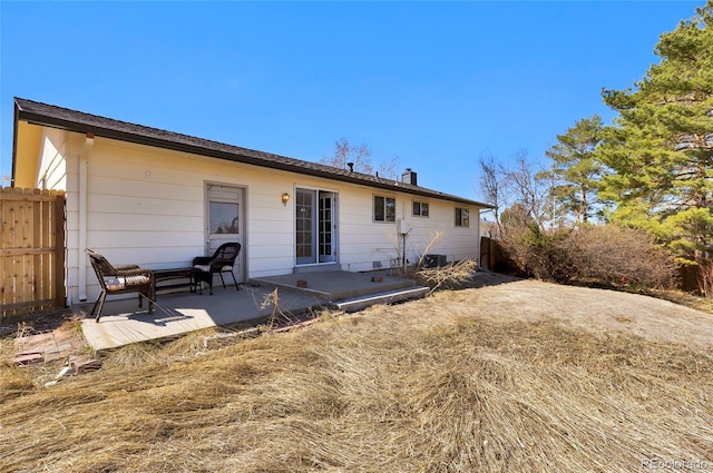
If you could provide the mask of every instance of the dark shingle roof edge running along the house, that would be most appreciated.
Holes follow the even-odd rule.
[[[113,138],[123,141],[155,146],[165,149],[192,152],[231,161],[300,173],[309,176],[324,177],[329,179],[361,184],[379,189],[402,191],[422,197],[433,197],[453,203],[490,208],[488,204],[466,199],[438,190],[401,183],[393,179],[381,178],[369,174],[350,171],[316,162],[287,158],[254,149],[241,148],[208,139],[196,138],[158,128],[145,127],[127,121],[99,117],[82,111],[57,107],[32,100],[16,98],[16,121],[28,122],[87,134],[98,137]],[[17,126],[17,125],[16,125]],[[13,157],[14,159],[14,157]]]

